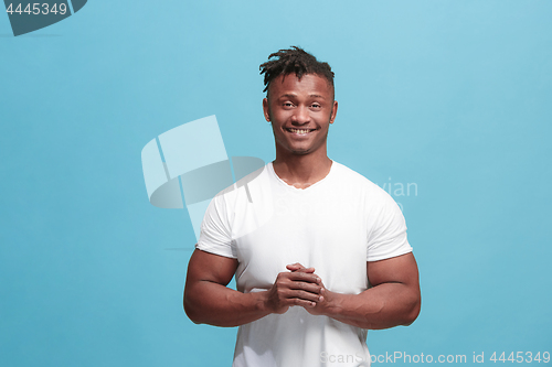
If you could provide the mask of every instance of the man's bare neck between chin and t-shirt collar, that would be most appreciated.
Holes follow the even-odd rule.
[[[330,173],[331,163],[332,161],[326,154],[323,156],[316,156],[316,154],[276,155],[273,168],[278,177],[288,185],[307,188]]]

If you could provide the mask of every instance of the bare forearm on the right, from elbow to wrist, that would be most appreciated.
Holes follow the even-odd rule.
[[[383,283],[360,294],[325,290],[320,314],[361,328],[408,325],[420,313],[420,292],[403,283]],[[316,307],[317,309],[317,307]]]

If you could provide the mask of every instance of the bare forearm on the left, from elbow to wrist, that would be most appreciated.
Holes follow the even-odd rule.
[[[184,291],[184,310],[197,324],[240,326],[266,316],[266,291],[242,293],[210,281],[198,281]]]

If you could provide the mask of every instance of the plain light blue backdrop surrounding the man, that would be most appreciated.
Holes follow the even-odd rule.
[[[216,115],[229,155],[273,160],[258,65],[289,45],[336,72],[330,158],[417,187],[394,196],[422,313],[370,332],[371,352],[552,352],[551,17],[545,0],[95,0],[13,37],[0,15],[2,365],[230,366],[236,330],[182,311],[192,226],[149,204],[140,151]]]

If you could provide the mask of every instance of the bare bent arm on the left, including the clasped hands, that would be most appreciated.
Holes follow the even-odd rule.
[[[322,287],[314,269],[280,272],[267,291],[242,293],[226,285],[237,260],[195,250],[188,265],[184,311],[194,323],[238,326],[270,313],[284,313],[290,305],[315,307]]]

